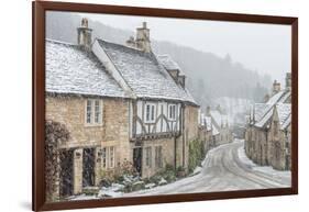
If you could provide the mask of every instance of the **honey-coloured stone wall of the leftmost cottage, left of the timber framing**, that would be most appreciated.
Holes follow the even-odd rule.
[[[102,124],[87,125],[85,121],[86,98],[47,97],[46,120],[66,125],[70,133],[68,142],[60,148],[75,149],[74,193],[82,190],[82,149],[95,149],[95,185],[99,185],[102,172],[102,147],[114,146],[114,167],[123,160],[132,161],[129,141],[129,101],[102,99]],[[76,153],[79,154],[76,154]],[[78,155],[78,156],[77,156]]]

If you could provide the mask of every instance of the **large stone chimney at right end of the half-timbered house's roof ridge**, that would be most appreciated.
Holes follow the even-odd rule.
[[[152,51],[150,29],[147,29],[146,22],[143,22],[142,27],[136,29],[136,47],[145,53],[150,53]]]

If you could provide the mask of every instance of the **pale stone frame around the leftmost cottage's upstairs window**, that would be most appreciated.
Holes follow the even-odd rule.
[[[89,120],[89,103],[90,102],[90,122]],[[96,111],[96,104],[99,102],[99,110]],[[98,112],[98,119],[96,118]],[[97,121],[96,121],[97,120]],[[85,100],[85,126],[102,126],[103,125],[103,100],[86,99]]]

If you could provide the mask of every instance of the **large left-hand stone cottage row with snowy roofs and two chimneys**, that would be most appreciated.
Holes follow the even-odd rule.
[[[186,76],[152,52],[146,23],[126,45],[91,34],[82,19],[77,44],[46,40],[46,120],[70,134],[58,146],[70,171],[59,170],[55,197],[98,186],[123,163],[142,177],[167,164],[186,169],[188,144],[198,137],[199,107]]]

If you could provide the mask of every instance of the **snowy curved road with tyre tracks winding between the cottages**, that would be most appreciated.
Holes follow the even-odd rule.
[[[176,182],[124,196],[192,193],[227,190],[290,187],[289,171],[263,169],[252,164],[243,154],[243,141],[211,149],[201,172]],[[268,171],[267,171],[268,170]]]

